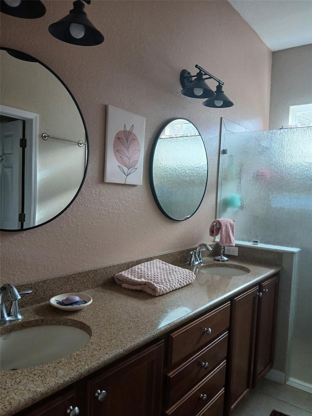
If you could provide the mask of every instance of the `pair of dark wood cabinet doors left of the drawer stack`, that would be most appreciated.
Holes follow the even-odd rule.
[[[135,352],[16,416],[160,416],[163,343]]]

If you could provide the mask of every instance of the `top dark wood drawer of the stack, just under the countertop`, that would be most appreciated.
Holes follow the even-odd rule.
[[[230,302],[196,319],[169,335],[168,367],[206,346],[227,331],[230,324]]]

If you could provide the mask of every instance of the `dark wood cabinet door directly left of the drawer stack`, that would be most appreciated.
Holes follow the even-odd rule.
[[[88,416],[159,416],[163,341],[88,381]]]

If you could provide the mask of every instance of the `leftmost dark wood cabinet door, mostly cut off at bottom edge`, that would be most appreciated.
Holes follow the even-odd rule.
[[[44,403],[34,406],[33,410],[25,410],[18,415],[25,416],[77,416],[83,415],[83,409],[79,406],[80,398],[78,389],[72,389],[67,393],[49,398]]]

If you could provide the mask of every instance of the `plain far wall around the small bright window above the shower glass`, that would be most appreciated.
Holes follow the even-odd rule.
[[[289,124],[291,105],[312,102],[312,44],[273,52],[270,130]]]

